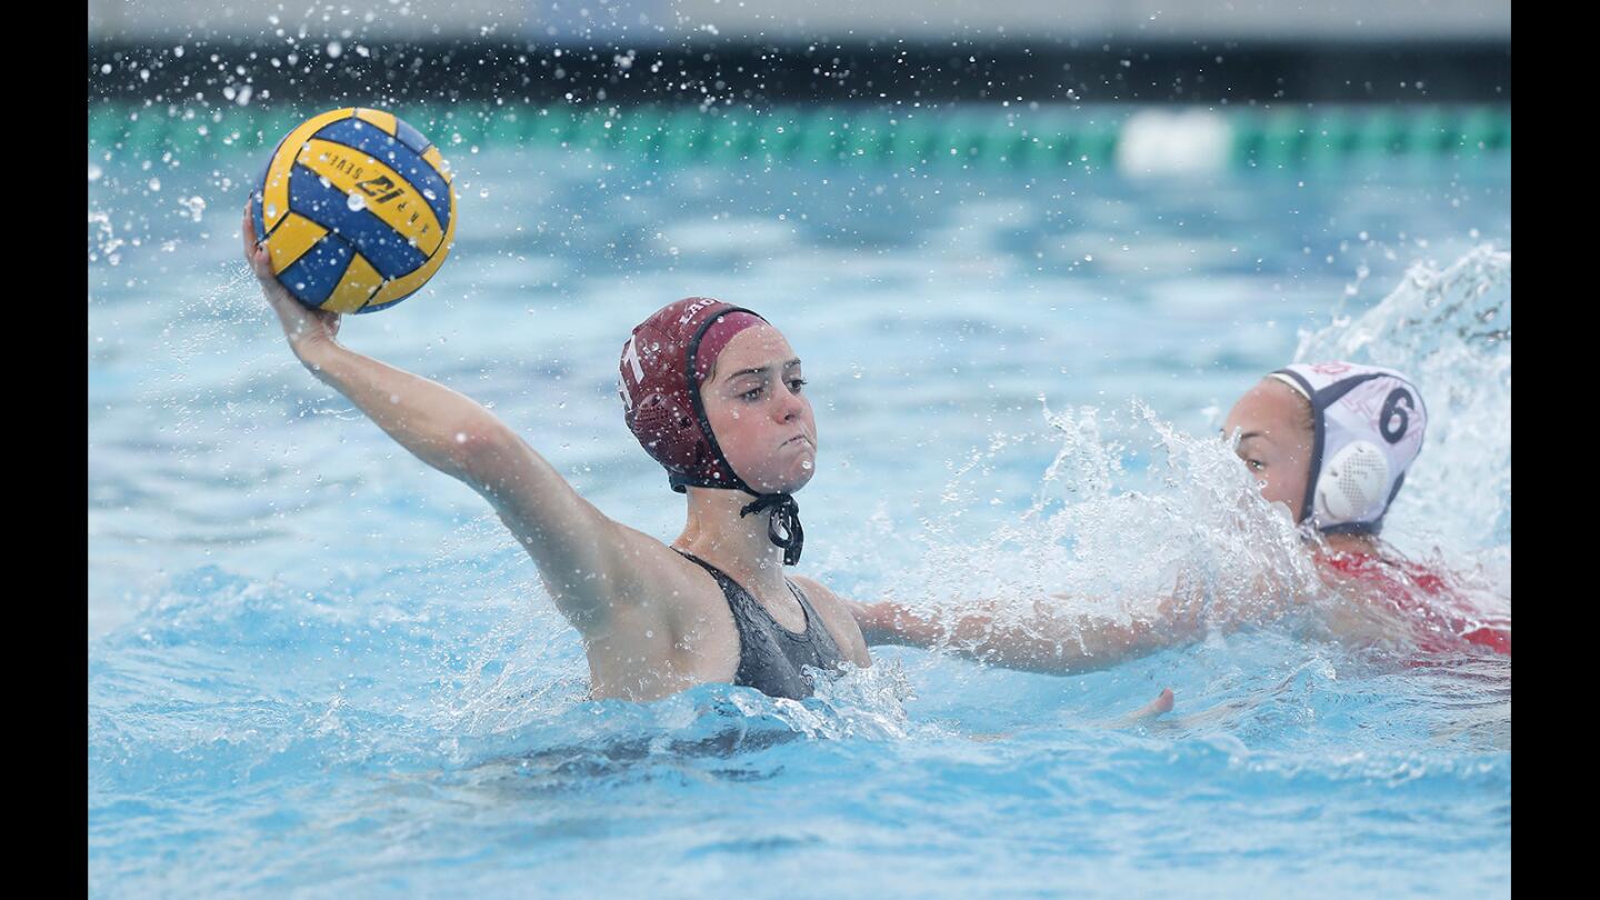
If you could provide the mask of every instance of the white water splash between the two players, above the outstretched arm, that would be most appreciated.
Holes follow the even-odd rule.
[[[1046,405],[1043,421],[992,440],[942,492],[970,511],[970,482],[1053,445],[1030,506],[979,541],[930,527],[917,569],[886,578],[914,588],[890,599],[947,621],[981,607],[998,626],[1086,650],[1085,625],[1160,625],[1174,597],[1181,615],[1230,631],[1326,593],[1294,524],[1226,442],[1186,436],[1138,400],[1110,413]]]

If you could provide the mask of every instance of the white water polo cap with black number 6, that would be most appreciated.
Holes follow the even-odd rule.
[[[1427,407],[1405,375],[1349,362],[1296,364],[1275,378],[1310,402],[1310,477],[1301,522],[1318,532],[1378,533],[1422,452]]]

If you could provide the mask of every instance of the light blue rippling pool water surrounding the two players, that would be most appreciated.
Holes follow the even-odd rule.
[[[288,352],[238,253],[259,162],[178,162],[91,159],[93,894],[1509,894],[1509,658],[1344,645],[1315,610],[1074,677],[883,647],[805,703],[586,701],[488,508]],[[1200,559],[1269,605],[1229,585],[1293,548],[1251,543],[1270,512],[1210,434],[1302,352],[1418,376],[1435,424],[1386,538],[1509,615],[1509,165],[451,162],[451,259],[341,338],[662,540],[682,500],[616,354],[714,295],[805,359],[800,572],[842,594],[1125,617]]]

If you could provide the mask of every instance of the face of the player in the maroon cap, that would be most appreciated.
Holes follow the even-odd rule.
[[[803,384],[800,359],[766,323],[734,335],[701,384],[723,456],[762,493],[794,493],[816,469],[816,416]]]

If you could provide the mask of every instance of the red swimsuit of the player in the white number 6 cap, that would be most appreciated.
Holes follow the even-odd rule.
[[[1424,652],[1459,650],[1467,642],[1510,655],[1510,618],[1469,609],[1443,578],[1414,562],[1341,552],[1322,557],[1322,564],[1376,588],[1394,609],[1418,620],[1416,644]]]

